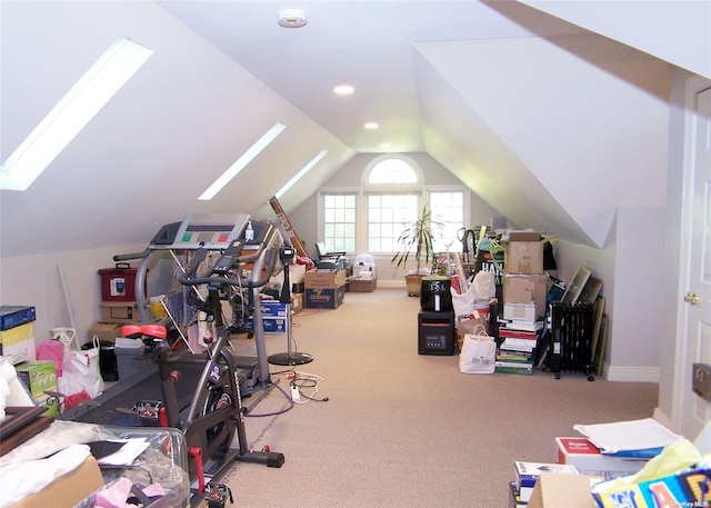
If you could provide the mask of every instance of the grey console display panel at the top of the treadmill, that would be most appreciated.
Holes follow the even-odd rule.
[[[250,221],[248,213],[192,213],[184,218],[170,249],[226,249]]]

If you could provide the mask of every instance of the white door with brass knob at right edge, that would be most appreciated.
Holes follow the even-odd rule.
[[[691,245],[685,310],[687,338],[680,387],[683,412],[681,428],[693,439],[711,420],[711,402],[691,389],[692,365],[711,365],[711,88],[697,96],[697,121],[693,132],[691,187]],[[683,341],[683,338],[682,338]]]

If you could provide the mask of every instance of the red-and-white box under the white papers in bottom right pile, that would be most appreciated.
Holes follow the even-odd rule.
[[[583,437],[555,438],[555,462],[575,466],[583,475],[603,479],[634,475],[649,459],[602,455],[600,449]]]

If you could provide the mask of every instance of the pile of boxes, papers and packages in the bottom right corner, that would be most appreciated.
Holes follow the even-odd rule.
[[[511,507],[709,506],[709,425],[694,442],[652,418],[573,429],[582,436],[557,438],[554,462],[514,464]]]

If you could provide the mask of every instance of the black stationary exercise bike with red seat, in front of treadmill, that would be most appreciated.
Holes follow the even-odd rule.
[[[140,401],[136,412],[146,420],[156,420],[157,425],[181,429],[186,437],[190,455],[189,475],[191,481],[198,481],[198,491],[206,488],[206,474],[217,475],[232,460],[258,462],[280,468],[284,462],[283,454],[249,449],[246,430],[240,379],[236,361],[227,350],[229,333],[222,319],[221,291],[230,286],[246,285],[250,289],[264,286],[271,277],[279,249],[272,248],[266,253],[266,275],[257,280],[244,282],[239,279],[239,263],[243,243],[233,241],[223,251],[206,275],[196,277],[198,267],[207,258],[208,249],[198,249],[184,275],[179,279],[186,286],[207,285],[208,296],[201,306],[214,327],[214,342],[203,355],[180,355],[171,350],[166,341],[166,328],[157,325],[126,326],[126,337],[141,338],[152,350],[161,384],[161,401]],[[180,386],[181,365],[203,362],[202,373],[194,388],[192,400],[181,410],[176,394]],[[150,424],[149,424],[150,425]],[[238,447],[231,448],[237,434]],[[207,462],[214,466],[208,470]]]

